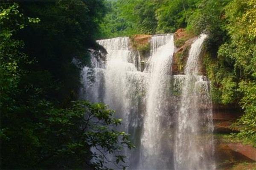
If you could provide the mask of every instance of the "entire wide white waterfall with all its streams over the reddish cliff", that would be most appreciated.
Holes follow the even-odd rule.
[[[104,62],[91,53],[90,67],[82,71],[81,99],[108,104],[123,119],[117,130],[131,134],[136,146],[124,150],[128,169],[214,169],[209,82],[197,75],[205,38],[192,44],[185,75],[172,75],[173,34],[151,37],[143,72],[128,37],[97,41],[108,54]]]

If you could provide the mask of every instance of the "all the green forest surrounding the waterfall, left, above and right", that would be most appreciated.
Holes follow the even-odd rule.
[[[104,51],[97,39],[178,28],[208,34],[212,100],[239,104],[233,136],[256,147],[255,18],[256,0],[1,1],[1,169],[105,169],[107,158],[90,148],[133,148],[128,134],[108,128],[122,122],[114,111],[79,101],[88,49]],[[124,158],[116,155],[117,167]]]

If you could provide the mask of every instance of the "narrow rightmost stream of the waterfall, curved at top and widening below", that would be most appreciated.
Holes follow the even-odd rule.
[[[214,146],[209,86],[204,77],[198,77],[199,54],[206,37],[201,34],[192,43],[186,62],[177,115],[175,170],[215,169],[212,159]]]

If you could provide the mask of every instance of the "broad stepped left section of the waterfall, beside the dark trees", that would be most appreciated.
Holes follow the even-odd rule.
[[[95,56],[91,56],[92,68],[85,67],[82,73],[84,84],[82,96],[92,102],[108,104],[116,111],[116,116],[123,119],[122,127],[118,130],[130,133],[131,140],[138,145],[136,139],[140,139],[138,132],[143,123],[143,103],[147,83],[147,75],[140,72],[140,55],[137,51],[129,49],[128,37],[97,42],[108,52],[106,62],[103,63],[96,60]],[[136,161],[134,156],[136,152],[125,150],[124,154],[130,157],[126,160],[127,165]]]

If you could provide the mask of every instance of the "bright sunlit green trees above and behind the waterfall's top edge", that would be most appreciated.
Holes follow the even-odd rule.
[[[107,1],[108,11],[100,37],[172,33],[185,28],[197,1],[116,0]]]

